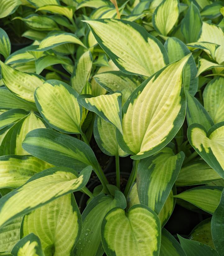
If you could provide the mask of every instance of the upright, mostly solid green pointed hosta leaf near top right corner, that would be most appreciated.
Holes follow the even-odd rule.
[[[181,22],[181,32],[186,43],[196,42],[202,27],[202,20],[197,6],[191,2],[185,17]]]

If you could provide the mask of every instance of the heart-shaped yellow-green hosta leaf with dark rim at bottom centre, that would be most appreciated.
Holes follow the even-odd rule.
[[[103,219],[101,239],[108,256],[159,255],[160,221],[145,205],[134,205],[127,213],[114,208]]]

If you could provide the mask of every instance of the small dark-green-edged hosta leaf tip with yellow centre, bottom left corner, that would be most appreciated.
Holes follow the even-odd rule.
[[[41,248],[40,239],[33,233],[25,236],[19,240],[14,246],[11,253],[15,256],[29,255],[29,256],[44,256],[44,252]]]

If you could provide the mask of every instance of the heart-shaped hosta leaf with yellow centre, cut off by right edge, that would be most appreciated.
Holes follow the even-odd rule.
[[[203,126],[192,124],[187,131],[187,137],[195,151],[208,163],[217,173],[224,178],[223,162],[223,122],[214,125],[208,133]]]

